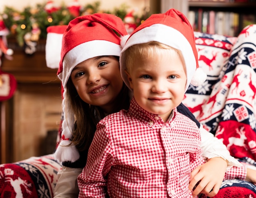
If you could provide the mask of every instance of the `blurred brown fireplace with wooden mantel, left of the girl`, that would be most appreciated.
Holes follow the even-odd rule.
[[[47,142],[55,142],[47,134],[58,130],[61,118],[61,83],[57,70],[46,67],[45,40],[33,55],[15,39],[8,39],[8,47],[14,50],[13,60],[2,57],[1,69],[15,76],[17,89],[0,102],[0,163],[47,154]]]

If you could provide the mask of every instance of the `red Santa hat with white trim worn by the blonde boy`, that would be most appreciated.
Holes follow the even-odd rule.
[[[186,65],[186,89],[189,87],[189,83],[198,86],[206,80],[207,75],[198,65],[195,37],[189,20],[180,11],[170,9],[166,13],[151,15],[135,29],[128,40],[122,40],[124,48],[120,55],[120,69],[121,76],[128,87],[130,85],[124,71],[126,65],[122,63],[122,54],[132,45],[150,41],[166,44],[182,52]]]

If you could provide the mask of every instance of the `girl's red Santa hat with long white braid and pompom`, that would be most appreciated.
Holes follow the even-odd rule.
[[[63,85],[62,140],[55,151],[59,162],[79,159],[75,145],[70,145],[74,127],[74,113],[65,102],[67,81],[72,69],[80,62],[96,56],[120,56],[121,38],[127,34],[121,18],[107,13],[95,13],[70,21],[63,34],[61,61],[57,72]],[[86,133],[86,131],[85,131]]]

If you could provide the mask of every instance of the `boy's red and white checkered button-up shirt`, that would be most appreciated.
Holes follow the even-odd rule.
[[[204,163],[200,141],[195,122],[176,109],[164,122],[133,98],[129,111],[97,125],[78,178],[79,198],[192,198],[191,171]]]

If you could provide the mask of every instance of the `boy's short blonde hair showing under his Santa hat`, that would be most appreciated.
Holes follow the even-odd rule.
[[[162,44],[157,41],[150,41],[142,44],[135,44],[124,51],[123,63],[126,66],[124,69],[130,73],[135,65],[136,60],[146,59],[150,56],[158,56],[159,54],[166,53],[166,56],[179,56],[182,61],[184,71],[186,73],[186,65],[182,52],[178,49]]]

